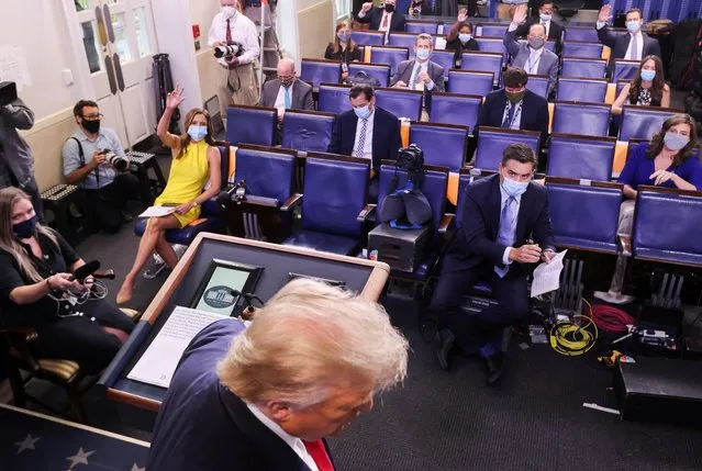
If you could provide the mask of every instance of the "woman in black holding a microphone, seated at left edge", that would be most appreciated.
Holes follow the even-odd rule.
[[[38,224],[26,193],[0,190],[0,321],[35,329],[29,348],[36,357],[74,360],[94,374],[110,363],[134,323],[94,292],[86,300],[92,279],[85,284],[71,279],[82,265],[60,234]]]

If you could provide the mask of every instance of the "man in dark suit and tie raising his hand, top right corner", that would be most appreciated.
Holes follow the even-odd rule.
[[[640,60],[646,56],[660,56],[660,44],[653,37],[642,32],[644,19],[642,11],[633,8],[626,12],[626,30],[628,34],[614,34],[606,22],[612,19],[612,5],[605,4],[600,10],[595,27],[600,43],[612,49],[609,67],[611,69],[614,59]]]

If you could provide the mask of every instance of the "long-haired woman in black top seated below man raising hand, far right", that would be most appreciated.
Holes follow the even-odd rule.
[[[658,56],[644,57],[632,81],[624,86],[612,104],[612,114],[622,114],[625,104],[670,108],[670,87]]]

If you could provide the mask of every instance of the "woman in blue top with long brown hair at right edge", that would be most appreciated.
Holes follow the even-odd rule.
[[[702,191],[702,165],[693,153],[698,145],[698,131],[692,116],[675,114],[664,122],[650,144],[640,143],[632,150],[619,179],[624,184],[625,198],[620,210],[619,235],[632,235],[639,186]],[[625,271],[626,258],[620,256],[610,291],[595,295],[615,304],[632,301],[631,296],[622,294]]]

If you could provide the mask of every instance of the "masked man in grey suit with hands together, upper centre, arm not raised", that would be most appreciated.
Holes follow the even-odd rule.
[[[422,120],[428,121],[432,110],[432,92],[444,91],[444,67],[430,60],[434,51],[432,35],[422,33],[414,40],[414,59],[403,60],[390,80],[390,87],[409,88],[424,92]]]

